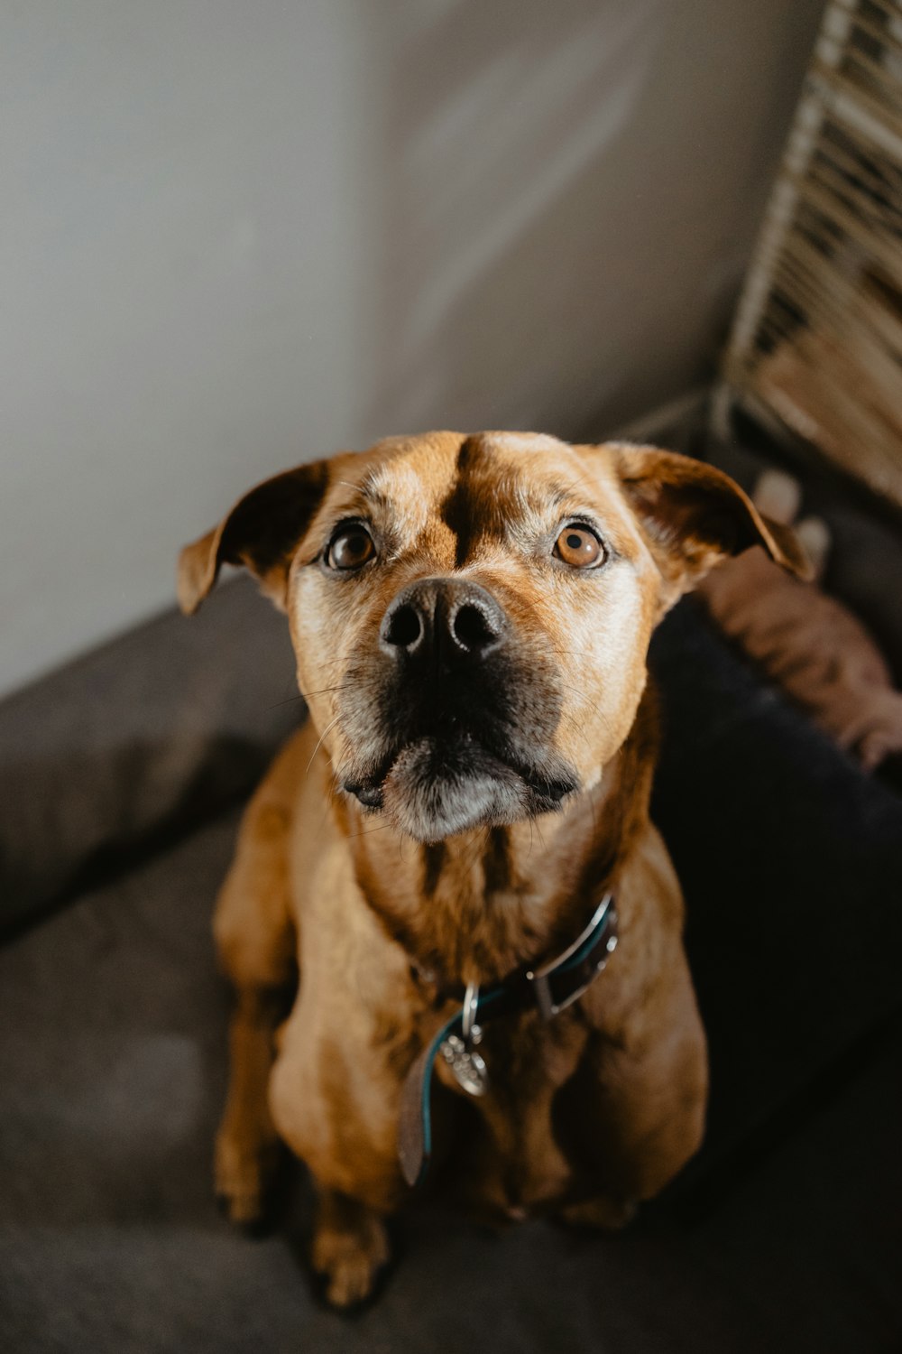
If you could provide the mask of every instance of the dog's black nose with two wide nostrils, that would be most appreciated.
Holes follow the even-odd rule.
[[[395,658],[437,655],[446,662],[485,658],[507,620],[491,593],[464,578],[421,578],[395,597],[379,640]]]

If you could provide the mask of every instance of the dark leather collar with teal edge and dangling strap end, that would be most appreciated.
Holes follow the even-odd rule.
[[[469,1024],[483,1026],[499,1016],[538,1007],[544,1020],[577,1001],[598,978],[617,948],[617,907],[613,894],[598,904],[588,926],[563,955],[541,968],[522,968],[492,987],[476,990]],[[468,1030],[469,1034],[469,1030]],[[446,1040],[464,1036],[464,1007],[446,1021],[422,1051],[404,1080],[398,1129],[398,1155],[410,1186],[422,1185],[433,1151],[431,1085],[435,1057]]]

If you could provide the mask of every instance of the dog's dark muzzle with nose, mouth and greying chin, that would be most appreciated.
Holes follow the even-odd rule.
[[[379,627],[381,751],[345,788],[421,841],[556,810],[576,776],[548,747],[560,696],[485,588],[422,578]],[[371,730],[372,733],[372,730]],[[375,764],[375,765],[373,765]]]

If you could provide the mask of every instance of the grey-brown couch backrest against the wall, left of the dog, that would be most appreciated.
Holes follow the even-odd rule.
[[[284,617],[247,578],[3,701],[0,934],[246,793],[303,715]]]

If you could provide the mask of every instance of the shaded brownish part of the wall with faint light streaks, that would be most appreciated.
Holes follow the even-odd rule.
[[[591,436],[706,374],[795,97],[782,66],[801,70],[817,5],[752,9],[380,7],[368,425]],[[761,49],[784,92],[771,145]]]

